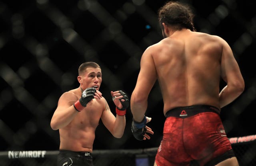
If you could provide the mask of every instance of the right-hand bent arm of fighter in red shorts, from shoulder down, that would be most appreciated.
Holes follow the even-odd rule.
[[[220,107],[233,102],[244,91],[244,79],[234,58],[231,48],[225,42],[222,50],[221,76],[227,85],[219,94]]]

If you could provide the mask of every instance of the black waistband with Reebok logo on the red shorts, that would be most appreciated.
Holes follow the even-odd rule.
[[[212,105],[191,105],[170,109],[166,112],[165,117],[186,118],[202,112],[214,112],[220,115],[220,109]]]

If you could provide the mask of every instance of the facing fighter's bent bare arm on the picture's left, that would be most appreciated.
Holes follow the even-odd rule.
[[[71,92],[62,94],[58,101],[58,106],[52,116],[51,127],[53,130],[65,127],[72,121],[72,119],[74,119],[78,113],[73,106],[76,100],[77,97]]]

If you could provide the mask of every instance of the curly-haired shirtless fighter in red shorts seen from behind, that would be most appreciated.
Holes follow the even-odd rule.
[[[158,12],[164,39],[142,55],[131,96],[132,132],[138,140],[150,139],[144,114],[158,80],[166,121],[154,166],[189,166],[192,160],[200,166],[238,166],[220,109],[240,96],[244,80],[228,43],[196,32],[191,11],[170,1]]]

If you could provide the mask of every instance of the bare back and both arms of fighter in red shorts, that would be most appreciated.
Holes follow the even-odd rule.
[[[222,38],[189,29],[171,34],[148,47],[131,97],[136,121],[142,121],[147,98],[156,79],[162,91],[165,113],[180,106],[207,104],[217,108],[236,99],[244,80],[232,50]],[[220,92],[220,77],[227,86]]]

